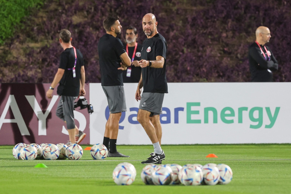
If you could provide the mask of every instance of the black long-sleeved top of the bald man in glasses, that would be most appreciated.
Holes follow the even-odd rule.
[[[249,47],[249,65],[251,72],[251,81],[252,82],[272,82],[273,73],[272,71],[278,70],[278,62],[274,57],[271,49],[266,46],[267,51],[269,51],[269,57],[265,47],[260,45],[262,51],[265,53],[266,58],[262,54],[261,49],[257,43],[253,43]]]

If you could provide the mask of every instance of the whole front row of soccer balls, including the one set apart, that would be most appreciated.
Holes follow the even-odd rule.
[[[120,163],[113,170],[113,180],[118,185],[130,185],[136,177],[136,170],[130,163]],[[146,165],[141,179],[147,185],[216,185],[228,184],[233,178],[231,168],[226,164],[178,164]]]

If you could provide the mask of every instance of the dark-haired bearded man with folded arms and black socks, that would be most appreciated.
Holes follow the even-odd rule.
[[[126,111],[122,72],[131,65],[122,42],[116,38],[122,26],[118,16],[103,21],[106,34],[98,42],[101,86],[107,97],[109,118],[105,125],[103,145],[109,148],[108,157],[129,157],[117,152],[116,141],[121,113]]]

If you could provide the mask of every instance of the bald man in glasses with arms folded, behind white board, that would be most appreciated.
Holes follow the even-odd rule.
[[[256,41],[249,47],[249,65],[252,82],[272,82],[272,71],[278,70],[278,62],[265,44],[271,38],[270,30],[260,26],[255,31]]]

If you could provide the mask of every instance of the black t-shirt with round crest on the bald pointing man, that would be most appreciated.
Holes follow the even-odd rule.
[[[165,58],[163,68],[145,67],[141,69],[143,77],[143,92],[168,93],[166,79],[166,51],[167,42],[165,38],[157,33],[152,38],[143,41],[141,59],[157,60],[156,56]]]

